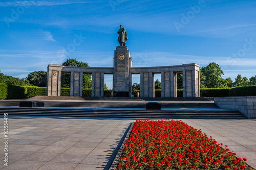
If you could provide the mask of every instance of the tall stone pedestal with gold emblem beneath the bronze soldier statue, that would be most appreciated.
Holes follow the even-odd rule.
[[[117,46],[114,56],[113,97],[132,96],[132,58],[127,46]]]

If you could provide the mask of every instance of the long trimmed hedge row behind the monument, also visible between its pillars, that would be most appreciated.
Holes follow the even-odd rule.
[[[111,97],[112,90],[104,90],[104,96]],[[133,91],[134,98],[137,98],[137,92],[140,90]],[[224,96],[246,96],[246,95],[256,95],[256,85],[252,86],[242,86],[234,88],[211,88],[211,89],[201,89],[202,97],[224,97]],[[15,86],[6,85],[5,83],[0,83],[0,99],[26,99],[36,95],[46,95],[46,87],[36,87],[36,86]],[[61,88],[61,96],[70,96],[69,88]],[[92,96],[92,89],[82,89],[82,96],[90,97]],[[183,96],[183,90],[177,90],[177,96],[181,98]],[[155,90],[155,98],[161,98],[161,90]]]

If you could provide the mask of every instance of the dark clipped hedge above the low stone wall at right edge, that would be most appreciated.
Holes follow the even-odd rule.
[[[256,95],[256,85],[230,88],[228,94],[229,96]]]

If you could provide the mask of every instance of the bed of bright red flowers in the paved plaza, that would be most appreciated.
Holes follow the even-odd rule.
[[[136,120],[117,168],[248,169],[221,145],[181,120]]]

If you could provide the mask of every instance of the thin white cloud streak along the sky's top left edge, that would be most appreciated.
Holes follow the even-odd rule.
[[[54,6],[70,4],[88,4],[97,2],[50,2],[50,1],[14,1],[0,3],[0,7],[18,7],[18,6]]]

